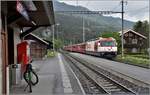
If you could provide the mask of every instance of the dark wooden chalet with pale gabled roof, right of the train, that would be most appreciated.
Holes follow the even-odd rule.
[[[120,36],[122,36],[121,31],[119,32]],[[142,49],[145,49],[145,43],[147,37],[144,35],[135,32],[132,29],[124,30],[124,49],[126,53],[140,53]]]

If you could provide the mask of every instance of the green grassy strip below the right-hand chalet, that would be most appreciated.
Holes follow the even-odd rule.
[[[148,55],[126,54],[124,58],[122,58],[121,55],[118,55],[114,60],[126,64],[136,65],[144,68],[150,68],[150,59]]]

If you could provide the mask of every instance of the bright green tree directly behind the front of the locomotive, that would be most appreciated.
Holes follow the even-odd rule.
[[[104,38],[113,37],[114,39],[116,39],[118,53],[121,53],[121,38],[118,32],[103,32],[101,34],[101,37],[104,37]]]

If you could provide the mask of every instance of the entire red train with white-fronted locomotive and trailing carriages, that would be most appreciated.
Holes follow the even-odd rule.
[[[64,50],[113,58],[117,55],[117,43],[116,40],[112,37],[110,38],[100,37],[98,39],[87,41],[85,43],[65,46]]]

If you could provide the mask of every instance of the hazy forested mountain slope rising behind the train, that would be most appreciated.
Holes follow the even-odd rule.
[[[82,6],[73,6],[54,1],[55,11],[90,11]],[[99,37],[101,32],[118,32],[121,30],[121,19],[102,15],[67,14],[55,12],[56,23],[59,23],[59,37],[66,43],[82,42],[83,17],[86,40]],[[125,29],[132,28],[134,22],[124,20]]]

